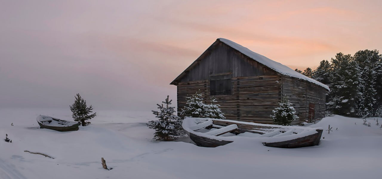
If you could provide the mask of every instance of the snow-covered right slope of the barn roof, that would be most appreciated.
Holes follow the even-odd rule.
[[[232,48],[235,48],[237,51],[243,53],[244,55],[248,56],[249,58],[252,58],[253,60],[256,60],[257,62],[261,63],[262,65],[265,65],[265,66],[273,69],[274,71],[277,71],[280,74],[283,74],[285,76],[299,78],[299,79],[302,79],[305,81],[309,81],[311,83],[317,84],[317,85],[329,90],[329,87],[327,85],[322,84],[322,83],[320,83],[314,79],[311,79],[311,78],[309,78],[303,74],[300,74],[297,71],[289,68],[288,66],[285,66],[281,63],[270,60],[269,58],[267,58],[263,55],[260,55],[256,52],[249,50],[246,47],[243,47],[239,44],[236,44],[235,42],[232,42],[231,40],[223,39],[223,38],[219,38],[218,40],[220,40],[221,42],[223,42],[224,44],[227,44],[228,46],[230,46]]]

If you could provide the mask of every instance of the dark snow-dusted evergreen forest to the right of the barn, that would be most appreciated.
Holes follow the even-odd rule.
[[[353,56],[337,53],[320,61],[316,70],[295,69],[329,86],[327,114],[351,117],[382,117],[382,55],[378,50],[360,50]]]

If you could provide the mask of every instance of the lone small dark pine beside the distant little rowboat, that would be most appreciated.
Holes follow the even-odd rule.
[[[89,113],[93,112],[93,107],[92,105],[87,107],[86,100],[84,100],[81,95],[76,94],[75,98],[76,100],[74,100],[73,105],[70,106],[70,110],[73,112],[72,117],[74,121],[81,122],[82,126],[86,126],[90,124],[88,120],[94,118],[97,114],[89,115]]]

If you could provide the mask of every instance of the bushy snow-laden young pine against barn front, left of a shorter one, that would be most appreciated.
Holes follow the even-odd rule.
[[[192,118],[205,118],[206,105],[203,103],[202,94],[195,93],[192,96],[186,97],[186,105],[181,111],[181,115]]]

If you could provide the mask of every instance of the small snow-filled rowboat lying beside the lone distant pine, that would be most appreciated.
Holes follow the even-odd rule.
[[[77,131],[79,123],[74,121],[64,121],[58,118],[53,118],[50,116],[37,116],[37,123],[39,123],[40,128],[52,129],[56,131]]]

